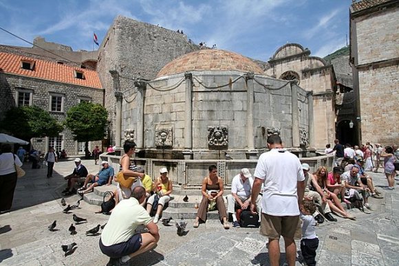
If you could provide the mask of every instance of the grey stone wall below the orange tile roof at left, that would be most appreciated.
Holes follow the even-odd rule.
[[[99,104],[103,103],[103,89],[0,73],[0,118],[3,117],[6,110],[16,106],[15,97],[19,89],[32,91],[32,105],[41,107],[46,111],[50,110],[50,95],[52,93],[61,94],[64,97],[63,111],[50,111],[50,115],[59,122],[65,120],[68,109],[78,104],[80,99],[91,100],[91,102]],[[65,148],[67,154],[76,155],[77,144],[73,140],[71,131],[65,129],[61,135],[64,136],[63,148]],[[47,151],[47,138],[34,139],[32,144],[39,151]]]

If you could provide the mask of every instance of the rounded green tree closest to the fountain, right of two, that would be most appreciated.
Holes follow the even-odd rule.
[[[107,118],[107,109],[92,102],[80,102],[67,111],[65,126],[72,131],[74,140],[85,142],[86,157],[89,153],[89,142],[102,140],[105,136]]]

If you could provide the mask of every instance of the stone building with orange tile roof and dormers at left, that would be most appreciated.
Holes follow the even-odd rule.
[[[18,52],[18,51],[17,51]],[[36,105],[63,122],[67,110],[80,101],[103,104],[103,89],[96,71],[63,63],[0,52],[0,119],[11,107]],[[83,152],[84,143],[65,129],[58,137],[32,139],[42,152],[49,146],[67,154]]]

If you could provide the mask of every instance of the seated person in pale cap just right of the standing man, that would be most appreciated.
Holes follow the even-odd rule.
[[[324,217],[328,221],[337,221],[334,217],[332,217],[330,206],[328,206],[327,197],[325,197],[323,190],[320,188],[319,184],[317,184],[317,179],[314,175],[309,173],[310,166],[309,164],[302,164],[303,175],[305,175],[305,195],[304,199],[310,201],[316,201],[316,206],[319,205],[319,212],[324,213]],[[310,187],[314,188],[314,190],[310,190]],[[318,223],[323,223],[324,218],[321,214],[315,212],[316,216],[314,219]]]

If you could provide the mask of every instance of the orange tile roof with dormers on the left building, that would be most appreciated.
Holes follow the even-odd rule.
[[[32,70],[21,68],[21,61],[34,62]],[[82,72],[85,79],[75,78],[75,70]],[[19,56],[0,52],[0,72],[28,76],[31,78],[41,78],[74,85],[92,88],[103,88],[100,83],[98,73],[94,70],[72,67],[70,65],[58,64],[50,61]]]

